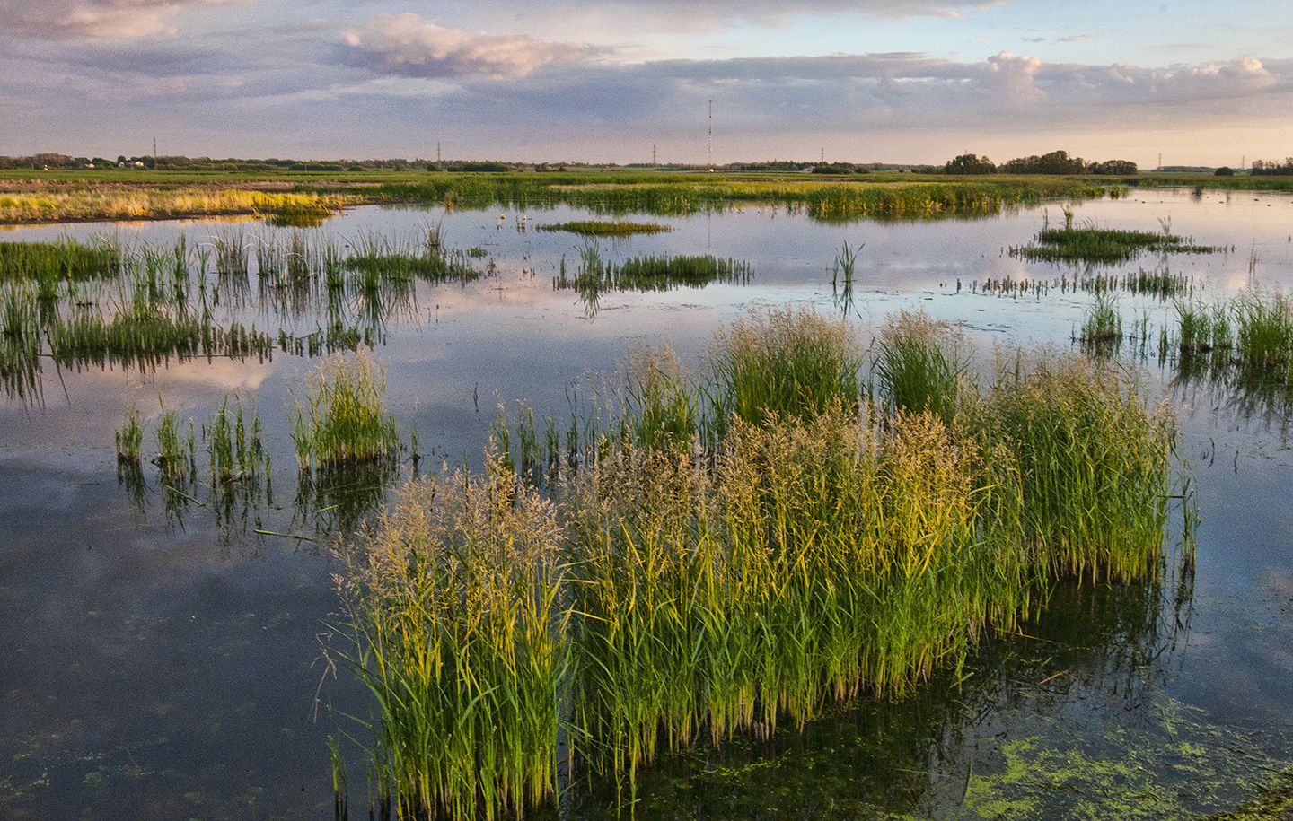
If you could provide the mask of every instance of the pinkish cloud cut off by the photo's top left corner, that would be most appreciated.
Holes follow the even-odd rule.
[[[246,0],[0,0],[0,31],[53,40],[173,34],[185,6]]]

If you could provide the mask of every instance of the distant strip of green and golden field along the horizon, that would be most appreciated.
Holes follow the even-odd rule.
[[[944,176],[903,172],[697,172],[641,168],[499,173],[365,171],[0,171],[0,222],[326,215],[369,203],[458,207],[566,203],[608,213],[690,213],[776,203],[824,220],[985,213],[1002,204],[1120,195],[1129,186],[1293,190],[1288,177],[1208,175]]]

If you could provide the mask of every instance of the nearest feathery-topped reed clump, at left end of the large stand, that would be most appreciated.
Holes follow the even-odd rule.
[[[398,817],[495,818],[556,786],[569,677],[556,511],[498,463],[412,481],[341,582]]]

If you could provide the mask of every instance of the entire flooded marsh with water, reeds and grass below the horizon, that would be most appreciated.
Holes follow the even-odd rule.
[[[0,194],[0,815],[1287,812],[1293,194],[405,177]]]

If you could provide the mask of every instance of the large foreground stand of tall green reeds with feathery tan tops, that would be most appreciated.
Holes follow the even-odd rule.
[[[843,323],[751,314],[694,374],[639,353],[565,445],[502,421],[482,473],[405,486],[348,553],[335,649],[397,812],[631,786],[659,743],[958,670],[1055,579],[1159,577],[1175,428],[1133,375],[1010,350],[980,383],[923,314],[882,340],[883,402]]]

